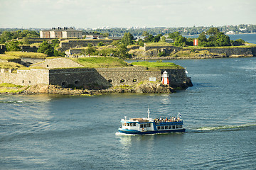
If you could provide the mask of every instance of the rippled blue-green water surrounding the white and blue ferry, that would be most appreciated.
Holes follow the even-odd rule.
[[[0,96],[0,169],[255,169],[256,58],[171,60],[176,94]],[[185,133],[119,135],[120,119],[175,116]]]

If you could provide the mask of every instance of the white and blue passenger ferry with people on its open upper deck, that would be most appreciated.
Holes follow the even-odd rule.
[[[149,135],[155,133],[169,133],[169,132],[185,132],[183,127],[183,120],[181,114],[172,118],[149,118],[149,108],[147,118],[129,118],[124,116],[121,120],[122,127],[118,129],[119,132],[132,135]]]

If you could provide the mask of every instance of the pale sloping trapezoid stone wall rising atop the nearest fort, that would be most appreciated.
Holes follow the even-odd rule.
[[[82,64],[79,64],[78,62],[74,62],[73,60],[59,57],[59,58],[50,58],[44,61],[39,62],[37,64],[33,64],[34,67],[45,67],[48,69],[53,68],[73,68],[73,67],[84,67]]]

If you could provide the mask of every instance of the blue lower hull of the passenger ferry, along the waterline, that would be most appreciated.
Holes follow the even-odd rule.
[[[171,132],[185,132],[186,129],[178,129],[178,130],[152,130],[152,131],[138,131],[138,130],[127,130],[127,129],[118,129],[119,132],[124,134],[131,134],[131,135],[150,135],[150,134],[157,134],[157,133],[171,133]]]

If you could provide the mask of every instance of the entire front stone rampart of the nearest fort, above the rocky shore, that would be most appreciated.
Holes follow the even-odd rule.
[[[17,70],[17,73],[1,69],[1,83],[18,85],[52,84],[63,87],[76,86],[84,89],[107,89],[110,86],[134,85],[141,81],[161,81],[166,70],[170,86],[186,88],[190,81],[185,69],[162,69],[149,71],[146,67],[124,68],[70,68]]]

